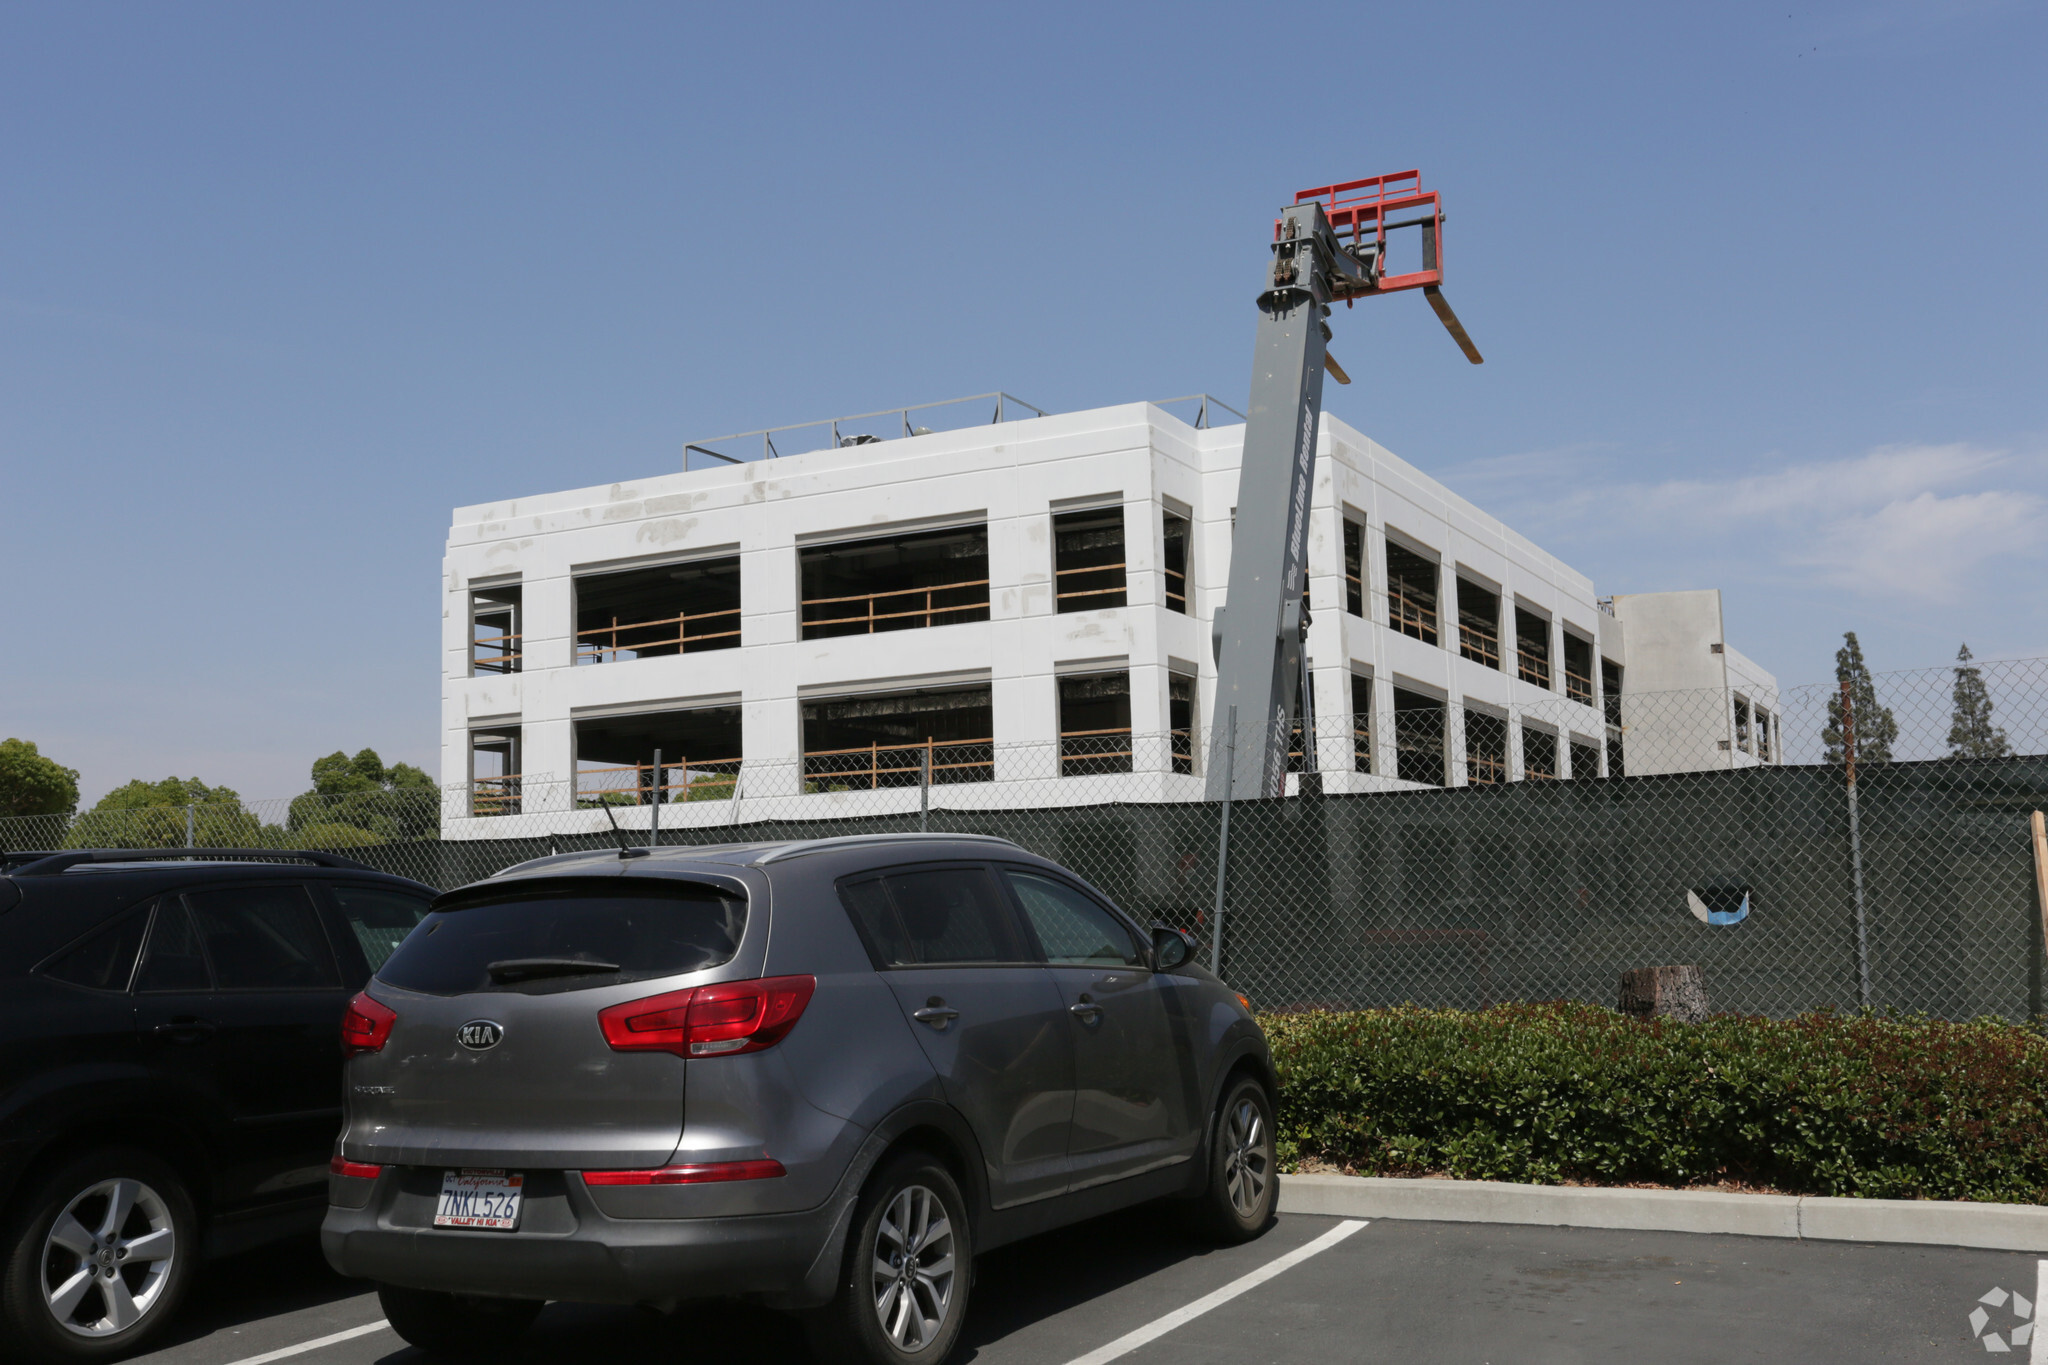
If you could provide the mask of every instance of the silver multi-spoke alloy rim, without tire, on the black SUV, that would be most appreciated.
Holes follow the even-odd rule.
[[[113,1336],[147,1316],[176,1261],[170,1205],[141,1181],[115,1177],[63,1205],[43,1238],[43,1300],[76,1336]]]

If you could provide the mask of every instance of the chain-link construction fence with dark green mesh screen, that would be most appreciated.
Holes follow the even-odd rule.
[[[1698,964],[1720,1011],[2042,1015],[2048,661],[1847,694],[1397,702],[1321,716],[1276,794],[1229,804],[1206,798],[1206,729],[1092,731],[666,765],[625,790],[520,774],[18,817],[0,843],[328,849],[451,888],[621,841],[977,833],[1190,931],[1260,1007],[1614,1005],[1630,968]]]

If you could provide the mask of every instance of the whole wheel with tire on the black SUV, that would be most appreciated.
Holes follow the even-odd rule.
[[[184,1177],[100,1148],[33,1181],[0,1240],[0,1359],[133,1355],[178,1312],[199,1265]]]

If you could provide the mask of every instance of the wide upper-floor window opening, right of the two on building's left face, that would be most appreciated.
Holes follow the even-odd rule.
[[[985,524],[813,544],[797,563],[807,641],[989,618]]]

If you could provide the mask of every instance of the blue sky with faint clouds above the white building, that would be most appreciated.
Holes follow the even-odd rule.
[[[12,4],[0,733],[434,769],[453,505],[1008,389],[1247,387],[1292,190],[1419,166],[1331,411],[1784,681],[2048,655],[2048,6]]]

